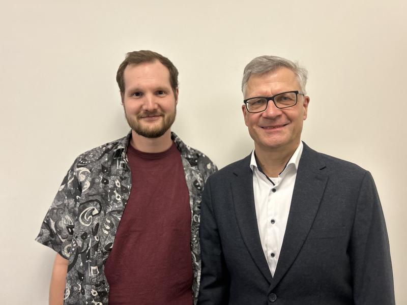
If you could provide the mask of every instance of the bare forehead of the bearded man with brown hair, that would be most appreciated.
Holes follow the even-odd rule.
[[[125,89],[133,87],[170,87],[169,71],[158,60],[153,63],[128,65],[123,73]]]

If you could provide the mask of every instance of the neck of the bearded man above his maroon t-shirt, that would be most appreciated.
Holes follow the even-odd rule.
[[[158,138],[146,138],[132,130],[130,145],[143,153],[162,153],[172,145],[171,130],[168,129],[165,134]]]

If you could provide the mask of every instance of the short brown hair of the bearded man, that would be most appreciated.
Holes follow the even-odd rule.
[[[126,54],[126,59],[123,60],[123,63],[120,64],[118,73],[116,75],[116,81],[118,82],[120,88],[120,94],[124,95],[125,92],[125,84],[124,84],[124,70],[128,65],[138,65],[142,63],[154,63],[155,60],[158,60],[161,64],[167,67],[169,71],[169,82],[171,84],[171,88],[177,96],[176,90],[178,88],[178,70],[177,68],[171,63],[167,57],[164,57],[161,54],[158,54],[153,51],[149,50],[140,50],[140,51],[133,51]]]

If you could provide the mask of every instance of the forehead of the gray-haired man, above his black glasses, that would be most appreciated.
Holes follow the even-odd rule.
[[[263,74],[250,76],[245,97],[273,96],[285,91],[300,89],[297,75],[288,68],[278,68]]]

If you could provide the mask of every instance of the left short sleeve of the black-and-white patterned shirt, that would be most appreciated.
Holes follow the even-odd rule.
[[[42,222],[36,241],[50,247],[69,259],[74,224],[78,214],[77,203],[81,187],[75,172],[76,162],[69,169]]]

